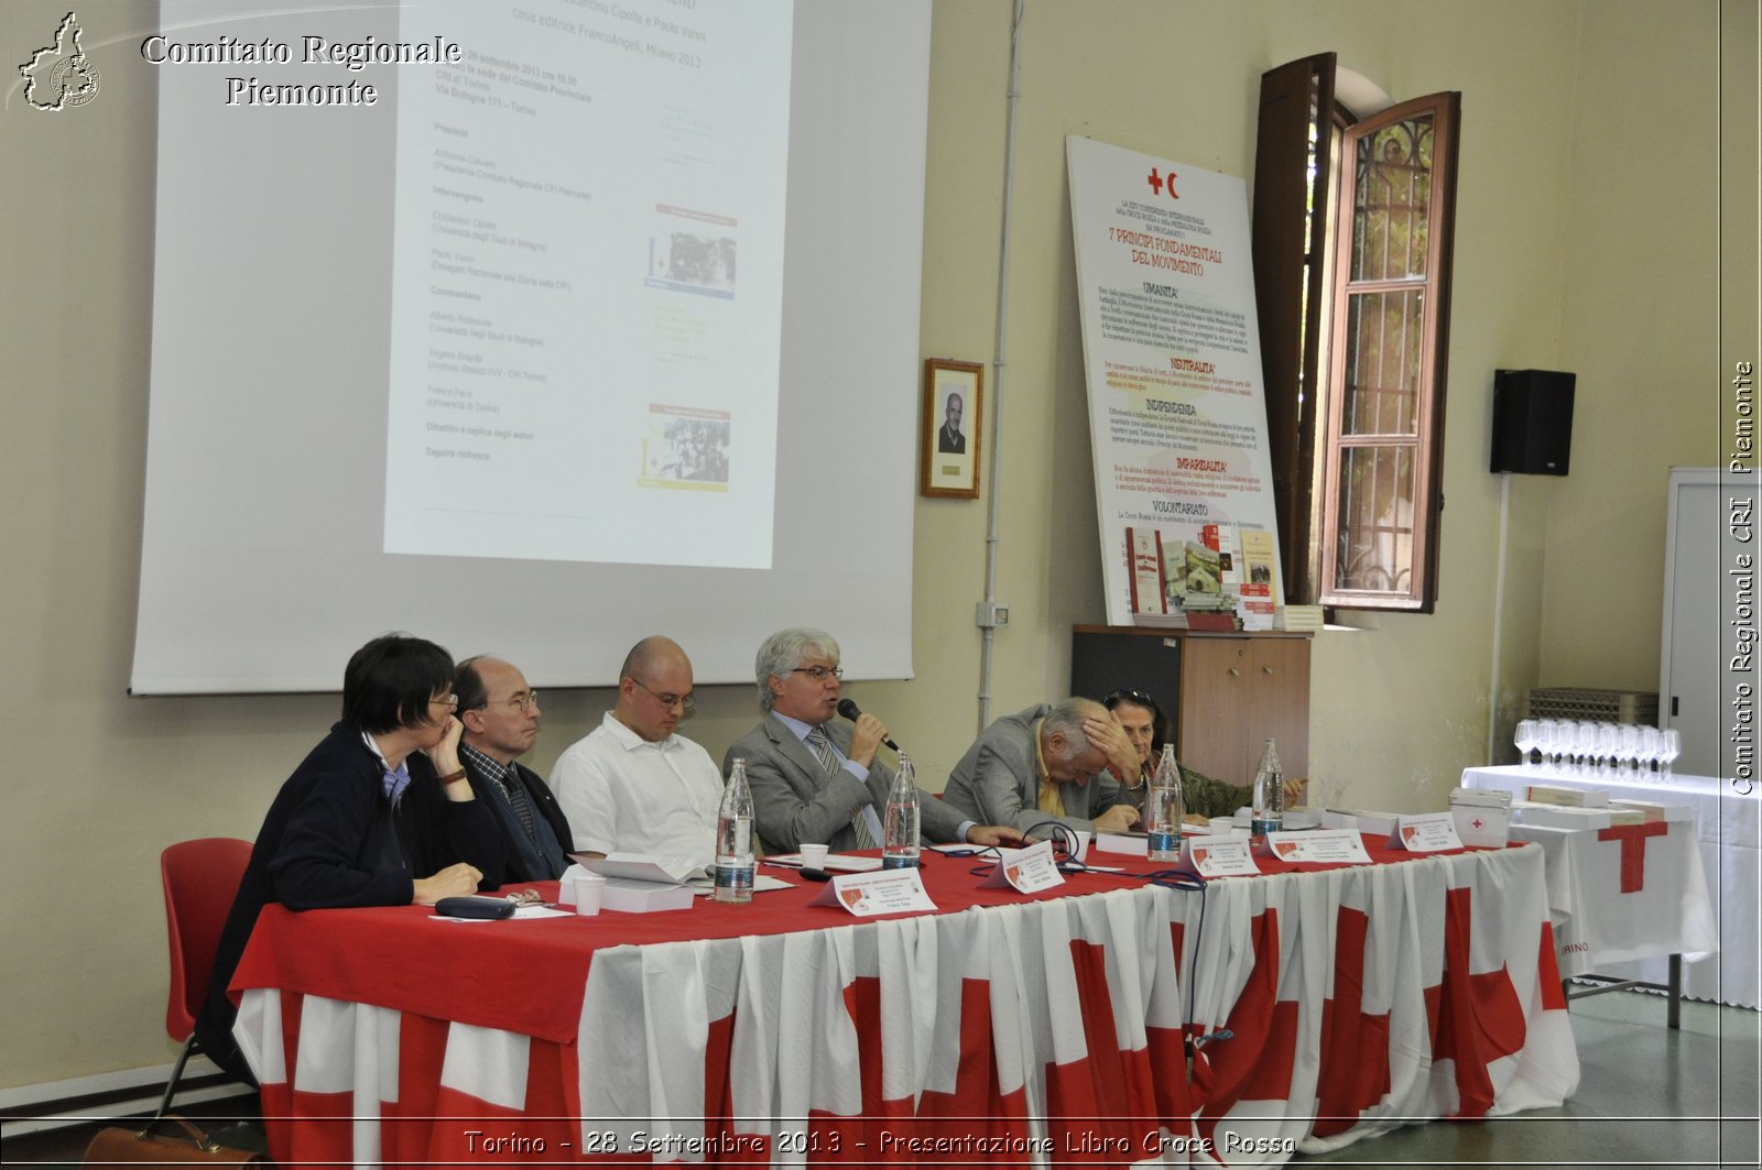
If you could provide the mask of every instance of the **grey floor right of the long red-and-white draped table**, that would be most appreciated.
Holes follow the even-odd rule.
[[[1572,1003],[1579,1091],[1559,1108],[1397,1129],[1290,1165],[1330,1166],[1757,1166],[1762,1015],[1609,992]]]

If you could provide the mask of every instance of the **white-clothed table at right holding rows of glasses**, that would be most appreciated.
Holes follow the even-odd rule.
[[[1464,788],[1491,788],[1508,791],[1519,800],[1531,784],[1561,788],[1600,788],[1612,800],[1651,800],[1665,805],[1684,805],[1693,811],[1693,833],[1700,856],[1707,897],[1718,937],[1718,955],[1702,955],[1683,964],[1683,994],[1690,999],[1762,1006],[1762,929],[1758,929],[1758,883],[1762,883],[1762,853],[1758,853],[1757,793],[1741,791],[1734,781],[1709,775],[1676,775],[1670,781],[1642,779],[1635,772],[1591,774],[1566,772],[1547,766],[1510,765],[1503,768],[1468,768]],[[1647,846],[1646,863],[1651,865],[1653,848]],[[1693,948],[1690,948],[1693,950]],[[1598,974],[1663,983],[1665,959],[1598,964]]]

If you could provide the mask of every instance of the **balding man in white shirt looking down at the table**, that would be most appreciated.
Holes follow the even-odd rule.
[[[678,643],[638,641],[618,670],[618,705],[552,768],[576,851],[712,856],[722,775],[677,733],[694,707]]]

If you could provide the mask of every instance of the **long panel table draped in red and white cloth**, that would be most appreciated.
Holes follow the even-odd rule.
[[[1373,855],[1045,895],[934,856],[941,913],[862,922],[811,883],[490,923],[271,906],[236,1034],[284,1166],[1242,1165],[1561,1103],[1542,851]]]

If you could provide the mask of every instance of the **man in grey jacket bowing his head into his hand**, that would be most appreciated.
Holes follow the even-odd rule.
[[[1101,703],[1036,703],[985,728],[948,774],[943,802],[1024,832],[1061,821],[1117,833],[1138,823],[1138,811],[1115,777],[1136,770],[1138,752]]]

